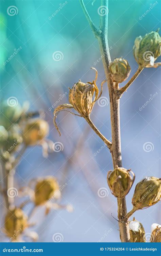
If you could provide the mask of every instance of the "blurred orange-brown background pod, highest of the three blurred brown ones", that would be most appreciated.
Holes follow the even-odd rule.
[[[49,133],[49,124],[43,119],[33,119],[26,124],[23,140],[26,145],[36,145]]]

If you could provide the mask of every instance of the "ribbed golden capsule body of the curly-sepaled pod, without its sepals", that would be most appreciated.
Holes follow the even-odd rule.
[[[70,89],[69,102],[81,115],[90,114],[92,96],[93,86],[79,81]]]

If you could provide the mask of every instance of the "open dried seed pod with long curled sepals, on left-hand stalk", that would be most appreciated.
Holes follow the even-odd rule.
[[[79,80],[76,84],[73,85],[73,87],[69,90],[69,102],[70,104],[61,104],[57,106],[54,110],[54,125],[59,132],[59,135],[61,135],[59,128],[56,124],[56,116],[60,111],[68,111],[71,114],[78,115],[81,117],[86,117],[89,116],[94,103],[101,97],[102,95],[102,89],[103,89],[103,84],[106,82],[104,80],[101,83],[101,91],[99,95],[99,89],[96,85],[97,77],[98,77],[98,72],[95,68],[91,68],[95,70],[95,79],[92,82],[87,82],[86,84],[81,82]],[[95,94],[95,96],[94,96]],[[94,96],[94,99],[93,99]],[[75,114],[68,109],[75,109],[79,114]]]

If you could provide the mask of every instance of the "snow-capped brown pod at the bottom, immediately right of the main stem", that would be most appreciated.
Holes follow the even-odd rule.
[[[143,225],[133,218],[132,221],[129,222],[129,230],[130,230],[130,242],[131,243],[145,243],[145,230]]]

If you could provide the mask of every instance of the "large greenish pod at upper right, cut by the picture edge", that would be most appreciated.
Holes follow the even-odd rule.
[[[161,38],[158,32],[150,32],[142,38],[137,37],[133,46],[133,55],[142,67],[154,66],[154,61],[161,54]]]

